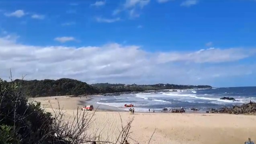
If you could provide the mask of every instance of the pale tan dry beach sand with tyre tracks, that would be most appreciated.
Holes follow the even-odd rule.
[[[38,97],[35,100],[51,112],[49,99],[53,108],[57,108],[55,97]],[[85,97],[66,96],[58,99],[60,107],[66,110],[66,116],[70,117],[79,101],[86,100]],[[151,144],[243,144],[248,138],[256,142],[256,116],[231,114],[95,112],[90,131],[97,131],[102,140],[115,141],[121,128],[119,114],[124,122],[134,117],[130,136],[140,144],[148,143],[155,128]]]

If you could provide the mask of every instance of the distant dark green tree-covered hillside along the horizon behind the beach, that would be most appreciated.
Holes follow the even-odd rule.
[[[162,89],[195,89],[195,88],[212,88],[210,85],[174,85],[174,84],[155,84],[155,85],[125,85],[96,83],[89,85],[85,82],[75,79],[62,78],[58,80],[20,80],[14,82],[22,83],[26,95],[35,96],[57,96],[57,95],[96,95],[102,93],[115,92],[132,92],[146,90]]]

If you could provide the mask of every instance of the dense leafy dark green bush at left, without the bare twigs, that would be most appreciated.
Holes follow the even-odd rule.
[[[0,79],[1,144],[36,144],[47,142],[53,119],[40,103],[29,101],[22,83]]]

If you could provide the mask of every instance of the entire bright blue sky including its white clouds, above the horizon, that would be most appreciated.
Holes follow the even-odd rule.
[[[255,0],[1,0],[0,30],[0,47],[33,57],[26,69],[34,72],[9,64],[28,79],[256,85]],[[36,55],[42,51],[51,63]],[[76,51],[95,53],[79,60]],[[66,73],[47,73],[52,63]]]

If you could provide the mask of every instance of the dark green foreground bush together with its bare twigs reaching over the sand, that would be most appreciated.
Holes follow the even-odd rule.
[[[116,142],[102,141],[87,133],[95,112],[77,110],[66,120],[61,109],[52,109],[52,116],[26,97],[22,82],[0,79],[0,144],[127,144],[133,118],[122,124]]]

